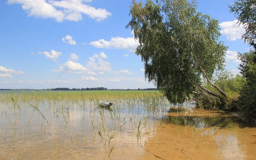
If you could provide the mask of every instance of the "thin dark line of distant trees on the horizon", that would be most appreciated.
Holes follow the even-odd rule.
[[[52,88],[52,89],[47,89],[51,91],[104,91],[104,90],[114,90],[114,91],[123,91],[123,90],[141,90],[141,91],[156,91],[157,88],[144,88],[144,89],[107,89],[105,87],[96,87],[96,88]]]

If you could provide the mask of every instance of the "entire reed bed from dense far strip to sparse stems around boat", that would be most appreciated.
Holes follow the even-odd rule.
[[[98,107],[101,100],[114,105]],[[0,103],[8,106],[0,108],[0,118],[12,121],[15,115],[11,123],[22,128],[23,138],[52,137],[59,145],[63,137],[74,143],[78,135],[87,135],[102,144],[107,159],[118,147],[143,146],[154,121],[170,106],[159,91],[4,91]]]

